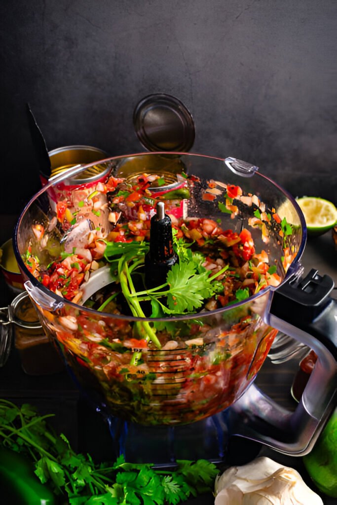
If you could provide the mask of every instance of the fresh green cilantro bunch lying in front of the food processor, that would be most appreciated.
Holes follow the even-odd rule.
[[[95,464],[55,434],[46,423],[51,416],[0,400],[0,447],[27,455],[40,481],[70,505],[176,505],[214,487],[218,470],[206,460],[177,461],[172,471],[126,463],[123,456],[113,464]]]

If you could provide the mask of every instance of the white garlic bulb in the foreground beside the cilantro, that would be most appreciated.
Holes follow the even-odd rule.
[[[231,467],[215,482],[215,505],[323,505],[293,468],[269,458]]]

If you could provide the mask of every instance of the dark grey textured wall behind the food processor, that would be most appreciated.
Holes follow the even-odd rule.
[[[193,152],[254,162],[294,195],[337,204],[334,0],[2,0],[0,19],[9,212],[37,184],[25,102],[49,149],[127,154],[143,150],[133,108],[155,92],[194,116]]]

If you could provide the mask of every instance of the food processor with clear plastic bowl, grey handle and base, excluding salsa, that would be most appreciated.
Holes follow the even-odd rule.
[[[313,269],[303,278],[306,226],[296,200],[256,166],[235,158],[160,152],[101,160],[107,178],[162,174],[164,201],[171,184],[187,188],[188,195],[175,194],[165,202],[173,223],[180,218],[210,219],[236,235],[249,230],[256,250],[266,252],[270,272],[278,279],[213,310],[161,317],[109,313],[86,306],[94,293],[120,280],[102,257],[84,278],[76,302],[43,285],[26,261],[29,250],[39,264],[48,266],[62,253],[71,255],[74,236],[78,240],[115,225],[108,220],[107,207],[99,217],[96,211],[80,222],[69,220],[66,231],[57,219],[55,195],[66,199],[81,190],[81,173],[87,174],[91,165],[61,174],[29,201],[18,220],[14,245],[25,288],[46,334],[80,389],[107,418],[119,450],[136,460],[139,452],[148,451],[150,460],[164,463],[176,453],[216,461],[223,456],[225,435],[230,434],[293,456],[309,452],[335,403],[337,304],[329,296],[333,281],[328,276]],[[177,179],[165,182],[167,173]],[[77,185],[69,185],[70,180]],[[100,192],[104,183],[99,184],[91,190]],[[240,192],[229,198],[229,187]],[[125,212],[131,211],[129,207]],[[155,215],[151,202],[143,211],[149,219]],[[45,230],[42,240],[36,226]],[[101,246],[109,240],[105,232]],[[295,412],[278,406],[253,383],[278,331],[307,345],[318,357]],[[149,440],[154,451],[164,440],[165,454],[152,453]]]

